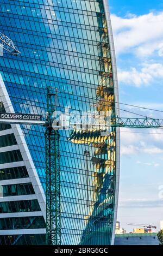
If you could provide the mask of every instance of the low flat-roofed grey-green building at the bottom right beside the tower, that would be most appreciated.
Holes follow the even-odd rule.
[[[159,245],[157,233],[116,234],[114,245]]]

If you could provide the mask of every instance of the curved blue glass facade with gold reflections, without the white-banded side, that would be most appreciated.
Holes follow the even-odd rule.
[[[103,0],[0,0],[0,31],[21,51],[0,57],[0,72],[15,112],[45,116],[49,86],[57,88],[57,109],[62,112],[68,106],[81,114],[118,115],[107,8]],[[45,188],[44,128],[21,128]],[[117,131],[59,133],[61,244],[110,245],[118,190]],[[24,236],[16,243],[29,244],[29,235]],[[5,235],[0,239],[7,243]]]

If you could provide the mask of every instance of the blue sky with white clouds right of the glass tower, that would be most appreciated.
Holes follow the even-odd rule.
[[[163,119],[163,1],[109,0],[115,41],[121,117]],[[163,130],[121,128],[117,221],[127,232],[136,224],[163,220]],[[137,226],[138,227],[138,226]]]

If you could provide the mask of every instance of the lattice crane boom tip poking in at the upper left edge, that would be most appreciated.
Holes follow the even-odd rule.
[[[12,55],[20,54],[21,52],[18,51],[17,47],[13,43],[13,41],[7,37],[7,35],[4,35],[0,32],[0,43],[4,50],[8,51]]]

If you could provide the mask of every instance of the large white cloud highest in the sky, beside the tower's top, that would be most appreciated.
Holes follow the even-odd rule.
[[[160,52],[163,43],[163,12],[128,15],[124,18],[111,15],[111,20],[116,53],[131,51],[139,56],[149,56],[154,51]]]

